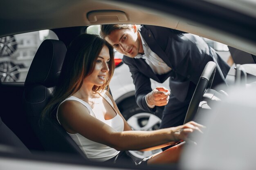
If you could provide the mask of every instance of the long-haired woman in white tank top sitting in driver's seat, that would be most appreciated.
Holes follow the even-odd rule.
[[[203,126],[189,122],[183,126],[155,131],[132,131],[106,91],[114,72],[112,46],[97,35],[83,34],[70,44],[54,97],[42,117],[55,106],[58,122],[92,161],[135,164],[177,162],[183,144],[146,159],[132,159],[123,150],[154,150],[180,140]],[[120,150],[122,150],[120,152]]]

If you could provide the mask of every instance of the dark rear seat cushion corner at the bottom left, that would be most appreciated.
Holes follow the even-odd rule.
[[[31,154],[20,139],[2,122],[0,117],[0,147],[1,152],[19,152],[22,154]],[[3,150],[3,148],[5,150]]]

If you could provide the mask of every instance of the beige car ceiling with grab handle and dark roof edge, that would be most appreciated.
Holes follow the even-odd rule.
[[[213,8],[208,8],[209,2]],[[0,7],[0,37],[16,33],[55,29],[71,26],[89,26],[94,24],[132,23],[166,26],[216,40],[256,55],[256,4],[249,0],[2,0]],[[193,3],[192,3],[193,2]],[[130,4],[133,3],[133,4]],[[216,8],[222,5],[222,8]],[[200,9],[212,10],[216,15],[203,18]],[[219,23],[223,7],[236,9],[239,14],[250,18],[249,26],[238,23]],[[154,7],[154,8],[152,8]],[[238,8],[239,7],[239,8]],[[221,11],[218,11],[222,9]],[[194,11],[193,11],[194,10]],[[93,13],[94,12],[94,13]],[[96,12],[96,13],[95,13]],[[114,14],[113,14],[114,12]],[[118,13],[126,15],[127,20],[117,17]],[[90,15],[96,21],[89,20]],[[197,15],[196,15],[197,14]],[[221,14],[221,15],[220,15]],[[235,13],[237,14],[237,13]],[[236,20],[243,20],[242,15]],[[232,19],[232,15],[229,14]],[[240,17],[240,18],[239,18]],[[89,18],[89,19],[88,19]],[[208,19],[208,20],[207,20]],[[212,19],[212,20],[210,20]],[[215,20],[214,20],[215,19]],[[240,19],[240,20],[239,20]],[[225,20],[223,20],[225,22]],[[254,22],[255,21],[255,22]],[[229,20],[226,20],[229,22]],[[251,23],[251,24],[250,24]],[[232,25],[233,24],[233,25]],[[222,28],[220,28],[222,26]],[[236,26],[236,29],[234,27]],[[240,26],[240,27],[239,27]],[[249,29],[250,28],[250,29]],[[243,29],[245,33],[243,33]],[[251,31],[254,34],[249,34]],[[247,35],[247,34],[249,35]],[[247,35],[247,36],[246,36]],[[250,36],[252,35],[252,36]]]

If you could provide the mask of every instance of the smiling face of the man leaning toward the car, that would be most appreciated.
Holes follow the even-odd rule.
[[[134,58],[138,53],[143,53],[137,27],[135,29],[115,29],[105,39],[116,51],[128,57]]]

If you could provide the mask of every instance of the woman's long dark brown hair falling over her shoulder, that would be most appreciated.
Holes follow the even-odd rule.
[[[41,114],[41,123],[47,113],[51,114],[55,106],[76,93],[83,84],[83,79],[90,75],[95,67],[97,58],[103,46],[107,46],[110,54],[109,72],[102,86],[94,85],[92,91],[108,88],[115,69],[114,52],[112,46],[98,35],[82,34],[76,37],[67,49],[63,62],[60,79]]]

